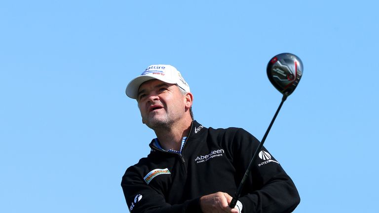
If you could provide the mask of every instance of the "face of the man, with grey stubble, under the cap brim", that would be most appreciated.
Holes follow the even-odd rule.
[[[179,121],[185,115],[187,101],[178,86],[156,79],[144,82],[138,89],[142,121],[152,129],[169,128]]]

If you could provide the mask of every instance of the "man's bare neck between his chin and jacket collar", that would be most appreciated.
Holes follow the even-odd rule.
[[[155,135],[163,149],[179,151],[183,137],[189,135],[191,123],[192,119],[179,124],[173,124],[169,128],[154,129]]]

